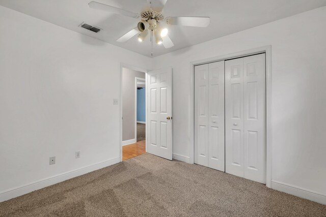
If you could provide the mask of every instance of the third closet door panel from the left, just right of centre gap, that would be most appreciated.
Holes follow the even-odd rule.
[[[225,171],[243,177],[243,58],[225,61]]]

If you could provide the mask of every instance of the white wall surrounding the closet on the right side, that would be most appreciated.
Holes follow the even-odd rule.
[[[326,195],[325,39],[323,7],[155,57],[155,68],[173,67],[173,153],[193,148],[190,63],[271,45],[272,179]]]

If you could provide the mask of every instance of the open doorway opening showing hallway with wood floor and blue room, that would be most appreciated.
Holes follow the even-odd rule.
[[[146,153],[146,72],[122,67],[122,161]]]

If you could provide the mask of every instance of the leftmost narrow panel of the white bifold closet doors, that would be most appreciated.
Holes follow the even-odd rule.
[[[195,163],[208,167],[208,64],[195,66]]]

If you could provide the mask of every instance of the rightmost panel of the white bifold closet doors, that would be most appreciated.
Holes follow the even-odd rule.
[[[244,178],[266,183],[265,54],[243,58]]]

